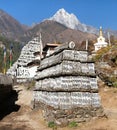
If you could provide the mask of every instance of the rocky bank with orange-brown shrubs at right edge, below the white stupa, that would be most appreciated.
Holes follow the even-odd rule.
[[[117,44],[99,50],[94,60],[98,76],[105,84],[117,87]]]

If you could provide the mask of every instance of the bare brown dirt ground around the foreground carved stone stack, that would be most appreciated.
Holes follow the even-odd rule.
[[[0,130],[52,130],[44,121],[41,111],[31,109],[32,91],[23,85],[14,86],[14,90],[16,93],[9,98],[7,105],[8,112],[0,113]],[[95,118],[78,124],[76,128],[68,126],[57,130],[117,130],[117,89],[108,88],[100,82],[99,92],[107,118]],[[15,103],[11,105],[12,101]]]

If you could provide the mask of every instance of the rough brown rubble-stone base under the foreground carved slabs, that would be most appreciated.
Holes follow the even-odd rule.
[[[42,114],[47,122],[55,122],[59,126],[67,126],[69,122],[86,122],[93,117],[104,116],[102,107],[74,107],[72,109],[55,109],[42,102],[35,101],[35,107],[42,109]]]

